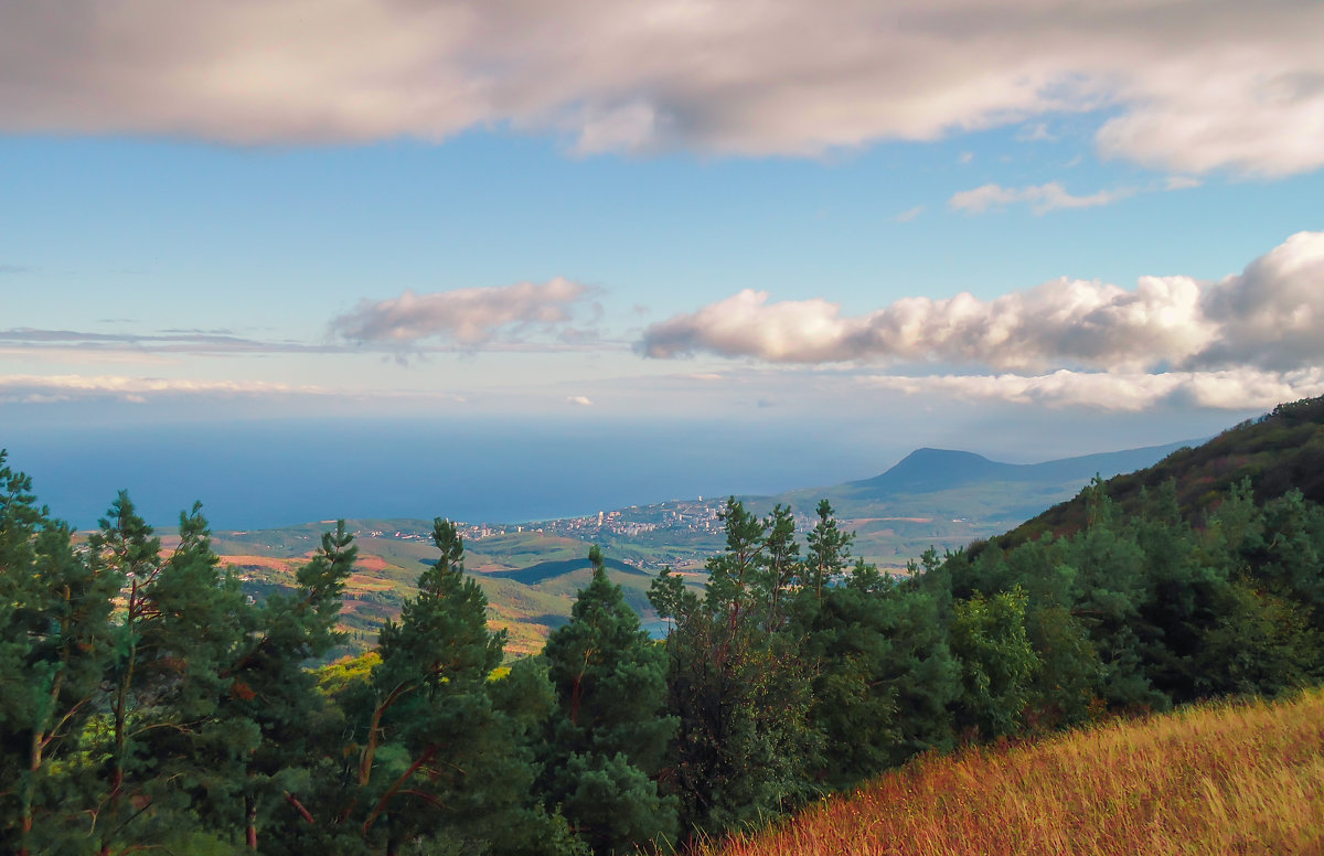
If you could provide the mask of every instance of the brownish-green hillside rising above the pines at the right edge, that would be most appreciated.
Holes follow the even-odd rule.
[[[1177,488],[1184,515],[1200,523],[1230,487],[1249,480],[1266,501],[1299,490],[1324,501],[1324,397],[1276,406],[1196,447],[1180,449],[1151,467],[1108,479],[1104,492],[1123,511],[1135,512],[1141,495],[1166,482]],[[1053,532],[1075,532],[1084,521],[1083,495],[1054,505],[993,540],[1006,548]]]

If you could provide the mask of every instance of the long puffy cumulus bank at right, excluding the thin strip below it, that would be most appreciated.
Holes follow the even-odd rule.
[[[1264,369],[1324,364],[1324,233],[1303,232],[1217,282],[1141,277],[1133,290],[1054,279],[993,300],[904,298],[858,318],[822,298],[744,290],[643,331],[651,357],[888,360],[994,369]]]

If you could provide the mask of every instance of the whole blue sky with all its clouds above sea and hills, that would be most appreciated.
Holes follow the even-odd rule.
[[[863,478],[1324,393],[1315,1],[0,21],[15,455],[106,426],[685,423],[843,443]]]

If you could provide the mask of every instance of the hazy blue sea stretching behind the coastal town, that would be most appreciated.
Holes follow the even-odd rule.
[[[94,528],[119,490],[156,527],[201,500],[216,529],[336,517],[518,523],[882,472],[907,449],[785,423],[271,419],[0,427],[41,503]]]

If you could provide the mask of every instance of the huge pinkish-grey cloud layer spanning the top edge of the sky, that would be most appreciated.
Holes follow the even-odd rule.
[[[1313,3],[0,0],[0,20],[8,132],[299,144],[508,127],[581,152],[816,156],[1107,108],[1110,157],[1324,164]]]

